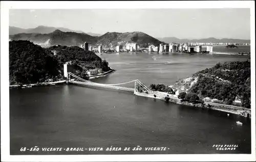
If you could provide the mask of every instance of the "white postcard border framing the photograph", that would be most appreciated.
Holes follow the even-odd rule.
[[[2,161],[255,161],[255,3],[254,1],[150,2],[1,2],[1,155]],[[251,152],[252,154],[164,155],[10,155],[9,133],[9,9],[251,9]],[[239,23],[239,22],[238,22]],[[210,139],[209,139],[210,140]]]

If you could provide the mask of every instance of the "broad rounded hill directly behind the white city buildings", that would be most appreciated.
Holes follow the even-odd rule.
[[[139,46],[148,46],[153,44],[158,46],[162,42],[153,38],[142,32],[132,32],[132,33],[105,33],[104,35],[98,37],[96,45],[102,44],[105,47],[115,47],[116,45],[125,46],[130,43],[137,43]]]

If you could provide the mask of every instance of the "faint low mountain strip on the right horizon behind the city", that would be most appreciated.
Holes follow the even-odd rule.
[[[250,43],[250,40],[244,39],[216,39],[216,38],[205,38],[205,39],[179,39],[176,37],[164,37],[157,38],[165,43],[176,42],[176,43],[187,43],[187,42],[199,42],[199,43]]]

